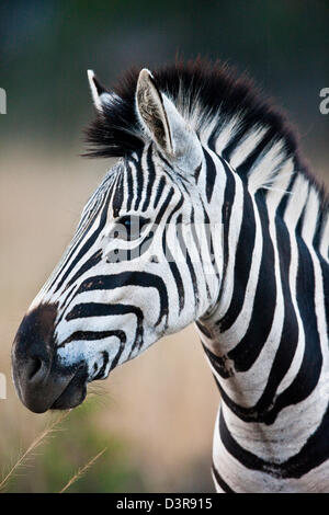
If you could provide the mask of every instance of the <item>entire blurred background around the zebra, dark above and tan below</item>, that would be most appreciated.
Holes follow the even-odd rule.
[[[12,0],[0,3],[0,473],[54,415],[29,413],[10,377],[25,309],[70,241],[112,162],[80,158],[93,110],[86,70],[111,88],[131,66],[198,54],[247,70],[299,131],[314,173],[329,183],[329,2]],[[218,405],[193,328],[164,339],[93,388],[9,484],[56,492],[102,448],[70,491],[212,492]],[[1,482],[1,480],[0,480]]]

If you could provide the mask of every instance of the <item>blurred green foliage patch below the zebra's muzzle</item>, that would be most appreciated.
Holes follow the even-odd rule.
[[[60,492],[75,473],[101,450],[106,451],[67,492],[144,492],[143,479],[132,464],[129,446],[118,435],[102,432],[100,405],[89,399],[73,410],[41,445],[9,483],[8,492]]]

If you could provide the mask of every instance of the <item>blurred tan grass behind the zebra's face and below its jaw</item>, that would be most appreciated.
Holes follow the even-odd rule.
[[[12,462],[48,420],[47,414],[27,412],[14,392],[10,378],[14,333],[106,168],[106,161],[31,148],[7,148],[1,153],[0,371],[8,378],[8,399],[0,400],[0,468]],[[212,484],[218,392],[193,328],[163,339],[98,385],[102,409],[94,423],[129,442],[132,460],[150,490],[184,489],[194,478]]]

